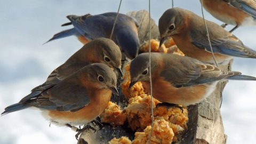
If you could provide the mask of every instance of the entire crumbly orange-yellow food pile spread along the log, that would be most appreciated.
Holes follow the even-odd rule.
[[[167,39],[164,45],[162,45],[160,48],[159,41],[156,39],[151,39],[150,43],[152,52],[184,55],[175,45],[172,38]],[[148,52],[148,50],[149,41],[141,47],[141,51]],[[130,63],[127,63],[124,66],[123,74],[124,76],[123,82],[121,83],[121,88],[122,93],[127,99],[129,99],[129,105],[122,112],[119,112],[119,114],[123,113],[123,115],[126,116],[125,122],[127,122],[128,126],[135,131],[135,139],[132,141],[132,143],[147,143],[149,142],[149,133],[151,130],[151,97],[148,95],[141,82],[134,84],[131,87],[131,90],[129,90],[131,79]],[[159,89],[161,89],[161,87],[159,87]],[[184,108],[182,113],[179,108],[175,107],[156,107],[158,103],[160,103],[158,100],[153,99],[155,121],[151,143],[171,143],[181,140],[183,132],[187,130],[187,109]],[[113,140],[118,141],[119,139],[114,138]]]

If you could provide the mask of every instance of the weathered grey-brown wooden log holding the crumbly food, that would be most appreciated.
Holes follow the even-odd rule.
[[[127,13],[131,17],[137,19],[139,24],[139,38],[140,43],[149,39],[149,15],[145,10],[138,12]],[[151,19],[151,38],[159,38],[158,27],[153,19]],[[227,66],[222,66],[221,69],[229,70],[231,62]],[[224,87],[226,82],[223,82]],[[119,90],[121,93],[121,90]],[[188,131],[185,133],[180,143],[226,143],[227,135],[224,133],[223,123],[220,114],[220,99],[221,99],[221,84],[219,83],[217,89],[198,105],[189,106],[189,121]],[[111,101],[118,103],[122,108],[126,106],[127,101],[124,95],[111,99]],[[117,126],[115,128],[108,124],[104,124],[103,129],[97,132],[92,130],[85,131],[81,134],[78,143],[85,143],[82,139],[91,143],[108,143],[113,138],[120,138],[122,136],[134,138],[134,132],[127,127]]]

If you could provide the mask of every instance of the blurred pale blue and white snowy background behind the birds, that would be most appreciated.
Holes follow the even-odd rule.
[[[82,1],[0,1],[0,112],[18,102],[35,86],[45,82],[51,71],[65,62],[83,45],[75,37],[58,39],[42,45],[53,34],[70,28],[66,15],[116,12],[118,0]],[[151,17],[156,23],[170,9],[171,0],[151,1]],[[202,15],[198,0],[174,0],[182,7]],[[148,10],[148,1],[123,1],[121,13]],[[205,11],[205,18],[218,24]],[[158,24],[157,24],[158,25]],[[231,29],[233,27],[227,27]],[[241,27],[234,34],[256,50],[256,26]],[[256,59],[235,58],[233,70],[256,76]],[[256,82],[229,81],[223,91],[221,108],[227,143],[255,143]],[[25,109],[0,117],[0,143],[76,143],[75,132],[67,127],[51,125],[40,111]]]

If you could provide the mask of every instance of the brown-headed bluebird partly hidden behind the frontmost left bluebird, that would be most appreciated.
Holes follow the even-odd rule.
[[[55,85],[91,63],[105,63],[109,67],[116,69],[122,76],[121,57],[119,47],[111,39],[94,39],[74,53],[65,63],[53,70],[44,84],[35,87],[20,102],[37,97],[42,91],[49,89],[52,85]]]

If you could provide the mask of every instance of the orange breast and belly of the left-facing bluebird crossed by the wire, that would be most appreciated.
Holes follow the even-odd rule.
[[[149,82],[142,82],[142,84],[149,92]],[[188,106],[208,97],[213,92],[214,87],[215,85],[205,84],[177,89],[169,82],[164,81],[162,77],[159,77],[153,82],[153,97],[161,102]]]

